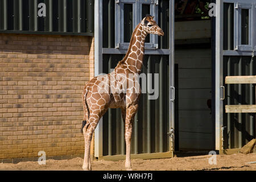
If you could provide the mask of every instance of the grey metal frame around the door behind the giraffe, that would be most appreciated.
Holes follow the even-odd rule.
[[[170,0],[170,12],[169,12],[169,31],[170,31],[170,40],[169,40],[169,49],[146,49],[145,55],[169,55],[169,77],[170,77],[170,85],[169,85],[169,95],[170,95],[170,104],[169,104],[169,133],[172,138],[170,138],[170,151],[168,152],[160,152],[160,153],[151,153],[151,154],[134,154],[131,155],[131,158],[167,158],[171,157],[171,146],[174,150],[174,2],[175,0]],[[102,54],[104,53],[113,53],[113,54],[125,54],[126,49],[115,49],[115,48],[102,48],[102,1],[95,0],[94,1],[94,76],[99,75],[103,72],[102,69]],[[98,126],[96,127],[94,133],[94,156],[97,158],[103,158],[108,160],[108,156],[103,156],[102,150],[102,142],[103,142],[103,125],[102,118],[100,119]],[[109,156],[110,157],[110,156]],[[123,155],[111,156],[110,160],[114,159],[124,159]]]

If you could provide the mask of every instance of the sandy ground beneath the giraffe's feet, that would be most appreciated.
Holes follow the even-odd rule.
[[[233,154],[217,155],[217,164],[210,165],[209,155],[174,157],[172,159],[133,159],[131,160],[133,170],[151,171],[177,171],[177,170],[253,170],[256,171],[256,154]],[[46,160],[46,165],[38,162],[20,162],[18,164],[0,163],[0,170],[81,170],[82,158],[69,160]],[[125,170],[123,160],[113,162],[105,160],[94,160],[93,170]]]

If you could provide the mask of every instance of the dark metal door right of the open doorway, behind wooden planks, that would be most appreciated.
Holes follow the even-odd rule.
[[[255,75],[256,6],[254,0],[216,2],[216,150],[230,154],[255,138],[255,114],[225,112],[225,105],[255,105],[255,86],[225,84],[225,77]]]

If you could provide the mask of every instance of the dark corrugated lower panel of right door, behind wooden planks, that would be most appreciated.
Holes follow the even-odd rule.
[[[256,59],[251,56],[224,56],[226,76],[256,75]],[[225,83],[225,80],[224,80]],[[254,84],[225,84],[224,105],[255,105]],[[224,148],[241,148],[255,138],[255,113],[225,113]]]

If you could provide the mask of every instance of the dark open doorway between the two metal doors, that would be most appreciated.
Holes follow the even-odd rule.
[[[175,1],[175,150],[214,149],[210,0]]]

